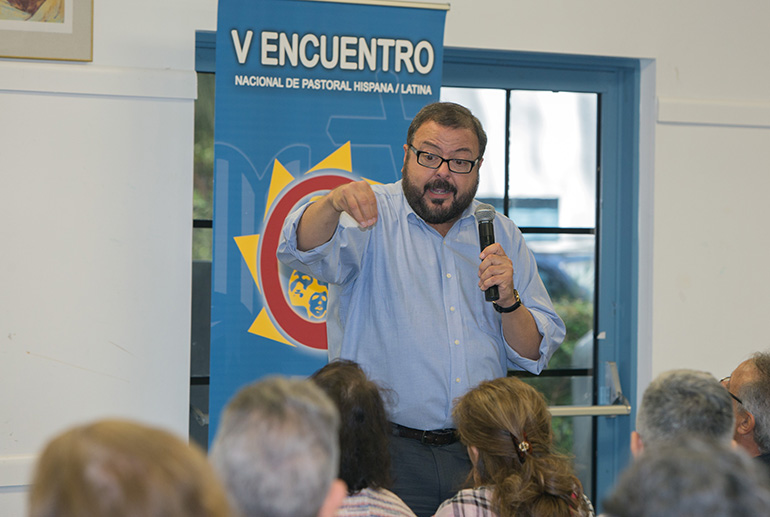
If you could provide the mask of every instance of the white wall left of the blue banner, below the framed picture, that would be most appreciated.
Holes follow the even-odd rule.
[[[92,63],[0,59],[4,517],[66,427],[187,435],[194,27],[185,0],[94,3]]]

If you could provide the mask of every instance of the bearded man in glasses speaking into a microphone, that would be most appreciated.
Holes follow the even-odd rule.
[[[409,126],[400,181],[335,188],[286,219],[278,247],[288,267],[329,283],[329,358],[358,362],[395,392],[393,491],[420,516],[470,469],[454,399],[508,368],[540,373],[564,339],[510,219],[494,218],[496,242],[479,254],[486,143],[468,109],[429,104]]]

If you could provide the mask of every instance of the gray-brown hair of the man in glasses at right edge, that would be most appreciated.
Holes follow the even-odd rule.
[[[770,452],[770,353],[758,352],[749,361],[752,371],[736,389],[738,411],[754,415],[754,442],[759,452]]]

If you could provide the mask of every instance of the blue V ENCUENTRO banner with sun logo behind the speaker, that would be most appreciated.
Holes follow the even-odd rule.
[[[275,257],[294,208],[401,177],[412,117],[438,100],[446,5],[220,0],[209,435],[244,384],[327,361],[322,282]]]

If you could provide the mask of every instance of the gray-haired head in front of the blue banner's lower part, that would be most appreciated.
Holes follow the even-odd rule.
[[[313,382],[269,377],[225,407],[210,451],[242,517],[327,517],[345,497],[339,415]]]

